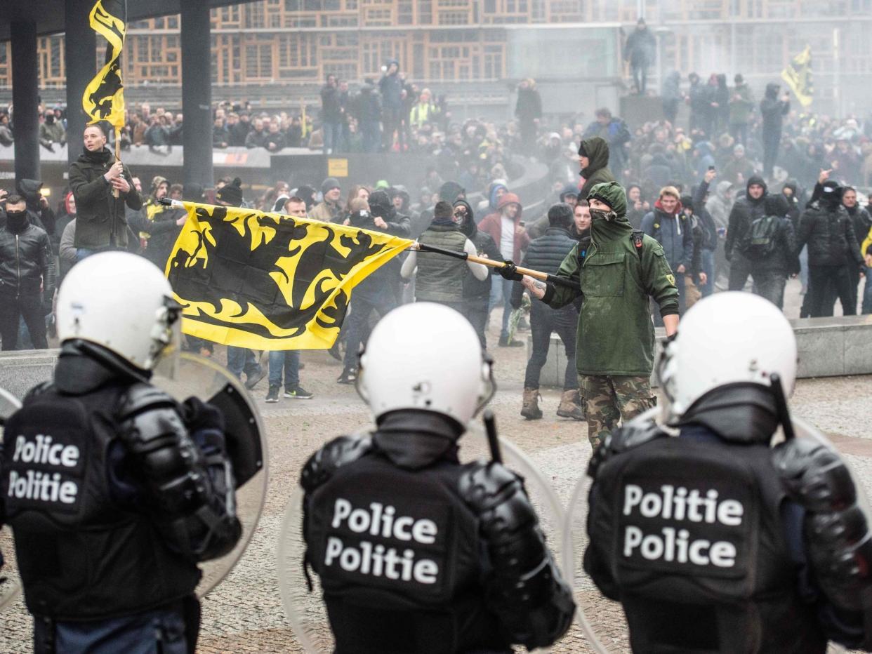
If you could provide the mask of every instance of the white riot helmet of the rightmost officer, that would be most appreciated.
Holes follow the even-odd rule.
[[[717,293],[693,305],[657,365],[674,423],[713,388],[751,382],[769,386],[778,373],[785,397],[794,392],[796,338],[773,303],[742,291]]]

